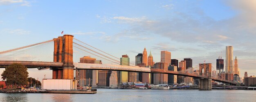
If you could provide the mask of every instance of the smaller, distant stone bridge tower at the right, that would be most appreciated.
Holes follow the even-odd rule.
[[[208,76],[200,78],[199,90],[211,90],[211,63],[199,64],[199,75]]]

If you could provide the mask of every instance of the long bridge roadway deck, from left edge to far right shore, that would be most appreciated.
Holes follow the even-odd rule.
[[[59,68],[63,67],[63,63],[59,62],[40,62],[40,61],[0,61],[0,68],[5,68],[12,63],[21,63],[28,68],[38,68],[38,69],[47,69],[47,68]],[[90,63],[74,63],[74,69],[94,69],[94,70],[113,70],[113,71],[126,71],[126,72],[143,72],[143,73],[160,73],[160,74],[173,74],[179,76],[189,76],[193,78],[209,78],[208,76],[202,76],[198,74],[190,74],[184,72],[174,72],[164,69],[155,69],[147,67],[138,67],[138,66],[126,66],[126,65],[108,65],[108,64],[90,64]],[[229,84],[236,85],[236,82],[223,80],[219,78],[211,78],[214,81],[225,82]]]

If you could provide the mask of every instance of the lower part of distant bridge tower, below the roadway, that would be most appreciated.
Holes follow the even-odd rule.
[[[199,90],[211,90],[211,79],[201,78],[199,80]]]

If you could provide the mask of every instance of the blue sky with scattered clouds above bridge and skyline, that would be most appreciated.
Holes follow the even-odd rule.
[[[130,62],[144,48],[154,62],[171,59],[213,63],[234,47],[240,76],[256,75],[255,0],[0,0],[0,51],[65,34]],[[0,73],[4,69],[0,69]],[[52,78],[51,70],[29,76]]]

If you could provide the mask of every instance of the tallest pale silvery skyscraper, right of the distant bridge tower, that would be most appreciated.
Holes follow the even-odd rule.
[[[233,46],[226,46],[226,73],[234,73]]]

